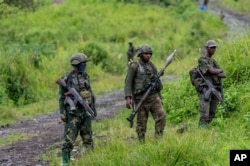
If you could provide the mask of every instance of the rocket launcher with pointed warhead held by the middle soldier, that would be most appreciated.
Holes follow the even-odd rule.
[[[140,109],[142,103],[144,102],[144,100],[148,97],[148,95],[150,94],[150,92],[152,92],[157,84],[157,82],[159,81],[160,77],[164,74],[164,70],[167,68],[167,66],[172,62],[173,57],[175,55],[176,50],[174,50],[174,52],[172,52],[166,59],[166,62],[164,64],[164,67],[160,70],[159,73],[157,73],[155,79],[150,83],[150,86],[148,87],[147,91],[143,94],[141,100],[139,101],[139,103],[136,105],[136,108],[132,111],[132,113],[130,114],[130,116],[127,118],[127,120],[130,122],[130,127],[133,127],[133,120],[135,118],[136,113],[138,112],[138,110]]]

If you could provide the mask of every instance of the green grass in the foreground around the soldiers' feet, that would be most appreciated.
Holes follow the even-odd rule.
[[[222,119],[224,127],[218,125],[220,117],[209,129],[198,129],[198,116],[186,124],[188,130],[183,134],[176,131],[178,126],[168,123],[163,138],[154,137],[154,123],[150,116],[146,143],[140,144],[135,128],[129,128],[125,119],[129,111],[124,110],[113,119],[93,122],[95,150],[82,153],[72,165],[107,165],[107,166],[141,166],[141,165],[229,165],[231,149],[249,149],[249,139],[237,121],[238,114],[232,118]],[[58,165],[56,157],[59,149],[51,151],[46,157],[50,163]]]

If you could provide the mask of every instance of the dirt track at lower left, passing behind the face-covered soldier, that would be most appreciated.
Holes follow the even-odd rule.
[[[122,90],[98,97],[96,101],[97,121],[103,117],[113,117],[123,107]],[[32,136],[28,140],[0,147],[1,166],[49,165],[46,161],[39,160],[37,156],[46,153],[49,146],[63,139],[63,124],[59,119],[59,111],[51,115],[39,116],[34,120],[21,121],[13,126],[1,127],[0,138],[11,133],[26,133]]]

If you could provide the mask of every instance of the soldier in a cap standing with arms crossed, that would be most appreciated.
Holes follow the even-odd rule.
[[[208,40],[205,47],[207,53],[205,56],[199,58],[198,67],[205,79],[209,80],[221,95],[221,78],[225,78],[226,75],[217,62],[212,58],[216,51],[217,44],[214,40]],[[219,99],[213,94],[210,95],[208,100],[205,100],[205,92],[207,91],[207,88],[207,86],[203,85],[201,91],[199,92],[200,127],[206,127],[212,121],[215,117],[215,112],[219,103]]]

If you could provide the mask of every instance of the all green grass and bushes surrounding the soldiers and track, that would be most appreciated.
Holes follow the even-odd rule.
[[[128,112],[122,112],[94,123],[95,151],[73,165],[228,165],[230,149],[249,149],[250,35],[228,42],[228,28],[218,17],[201,12],[194,1],[176,2],[46,1],[32,12],[0,5],[0,125],[56,110],[55,80],[71,70],[73,53],[89,56],[87,70],[99,95],[124,86],[128,41],[148,43],[159,69],[177,49],[165,75],[178,78],[162,92],[166,135],[155,140],[151,120],[146,144],[138,144],[125,120]],[[198,98],[188,71],[197,65],[208,39],[219,44],[215,59],[227,73],[223,85],[228,111],[219,107],[210,129],[200,130]],[[188,125],[183,135],[176,133],[180,123]],[[59,165],[58,151],[45,154],[51,165]]]

